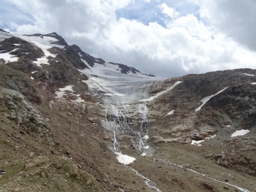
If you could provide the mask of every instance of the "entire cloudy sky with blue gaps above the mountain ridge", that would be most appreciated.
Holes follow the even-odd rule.
[[[1,0],[0,28],[56,32],[106,62],[178,77],[256,68],[255,0]]]

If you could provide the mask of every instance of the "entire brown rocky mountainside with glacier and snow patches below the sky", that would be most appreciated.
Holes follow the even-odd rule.
[[[0,191],[255,191],[255,75],[158,78],[0,30]]]

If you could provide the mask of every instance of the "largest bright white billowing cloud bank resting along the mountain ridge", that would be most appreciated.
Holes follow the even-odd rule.
[[[256,66],[255,52],[240,46],[234,36],[220,30],[213,14],[203,12],[210,9],[208,4],[213,4],[210,1],[206,4],[194,0],[207,23],[194,14],[179,14],[180,11],[166,2],[157,5],[156,1],[145,2],[147,6],[154,4],[165,26],[156,21],[142,23],[135,18],[118,18],[117,11],[134,6],[137,3],[134,0],[9,2],[33,16],[33,22],[9,24],[9,30],[17,33],[55,31],[69,44],[75,43],[95,57],[132,66],[142,73],[173,77]]]

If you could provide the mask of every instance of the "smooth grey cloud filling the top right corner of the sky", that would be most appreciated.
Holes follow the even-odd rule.
[[[233,38],[238,43],[256,50],[256,1],[233,0],[193,0],[201,7],[201,17],[220,33]]]

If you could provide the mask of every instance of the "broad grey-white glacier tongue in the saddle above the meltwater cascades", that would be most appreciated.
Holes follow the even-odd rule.
[[[86,64],[86,63],[85,63]],[[118,65],[105,63],[104,65],[95,63],[93,68],[80,70],[80,73],[87,75],[86,80],[89,89],[95,95],[102,92],[102,100],[117,105],[138,102],[144,98],[149,98],[149,85],[164,78],[154,78],[146,75],[124,74],[119,70]],[[103,97],[107,95],[109,97]]]

